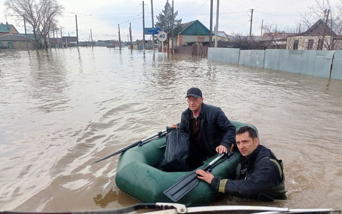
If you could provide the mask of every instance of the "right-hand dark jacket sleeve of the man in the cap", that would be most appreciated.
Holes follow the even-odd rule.
[[[217,112],[217,125],[223,132],[223,138],[220,145],[223,145],[229,149],[232,143],[235,141],[235,126],[229,121],[224,112],[219,108]]]

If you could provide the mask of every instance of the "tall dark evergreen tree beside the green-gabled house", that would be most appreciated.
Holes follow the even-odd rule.
[[[182,23],[182,19],[176,19],[178,15],[178,11],[173,14],[173,34],[176,35]],[[171,32],[172,32],[172,6],[169,3],[169,0],[166,0],[164,10],[162,10],[157,17],[157,22],[155,27],[161,27],[161,30],[165,31],[168,34],[168,48],[169,48],[169,41],[171,39]]]

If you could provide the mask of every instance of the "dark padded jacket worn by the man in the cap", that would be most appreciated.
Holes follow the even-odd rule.
[[[201,131],[203,141],[209,151],[209,155],[213,156],[217,152],[216,147],[223,145],[228,149],[235,141],[235,126],[225,116],[221,108],[202,103],[201,111]],[[180,129],[190,131],[191,110],[187,108],[181,117]]]

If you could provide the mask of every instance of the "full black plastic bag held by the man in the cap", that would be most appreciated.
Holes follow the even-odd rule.
[[[165,172],[188,171],[189,144],[189,131],[167,127],[165,154],[158,168]]]

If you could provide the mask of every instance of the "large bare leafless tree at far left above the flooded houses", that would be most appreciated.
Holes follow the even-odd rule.
[[[56,0],[6,0],[4,5],[6,15],[16,16],[17,21],[22,21],[25,16],[26,22],[33,28],[36,47],[41,37],[47,47],[46,37],[64,10]],[[41,37],[38,38],[37,33]]]

